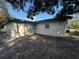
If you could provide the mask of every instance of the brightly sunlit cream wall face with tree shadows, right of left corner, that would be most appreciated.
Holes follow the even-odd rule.
[[[13,23],[11,30],[12,37],[19,37],[24,35],[31,35],[33,33],[31,24]]]

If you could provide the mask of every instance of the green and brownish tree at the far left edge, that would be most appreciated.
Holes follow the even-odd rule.
[[[10,14],[6,8],[6,3],[3,0],[0,0],[0,30],[9,17]]]

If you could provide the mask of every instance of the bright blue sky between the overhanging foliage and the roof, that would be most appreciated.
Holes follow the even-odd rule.
[[[28,4],[26,7],[29,7],[29,6],[30,5]],[[54,15],[49,15],[46,12],[44,12],[44,13],[40,12],[38,15],[34,16],[34,20],[33,21],[39,21],[39,20],[54,18],[56,16],[56,14],[62,9],[62,6],[60,5],[60,3],[58,3],[58,6],[59,6],[59,8],[56,8],[54,6],[54,10],[55,10]],[[10,4],[8,4],[7,9],[8,9],[8,12],[13,17],[18,18],[18,19],[22,19],[22,20],[30,20],[31,21],[31,19],[28,19],[26,17],[27,14],[25,12],[23,12],[22,10],[20,10],[20,11],[17,12],[16,10],[14,10],[12,8],[12,6]]]

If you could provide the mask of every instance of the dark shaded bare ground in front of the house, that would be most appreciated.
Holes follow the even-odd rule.
[[[0,53],[0,59],[79,59],[79,38],[73,36],[33,34],[12,42],[12,45],[10,42],[6,44],[7,49]]]

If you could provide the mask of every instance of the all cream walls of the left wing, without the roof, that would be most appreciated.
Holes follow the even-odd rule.
[[[24,23],[10,23],[5,26],[6,32],[12,37],[20,37],[33,34],[32,25]]]

